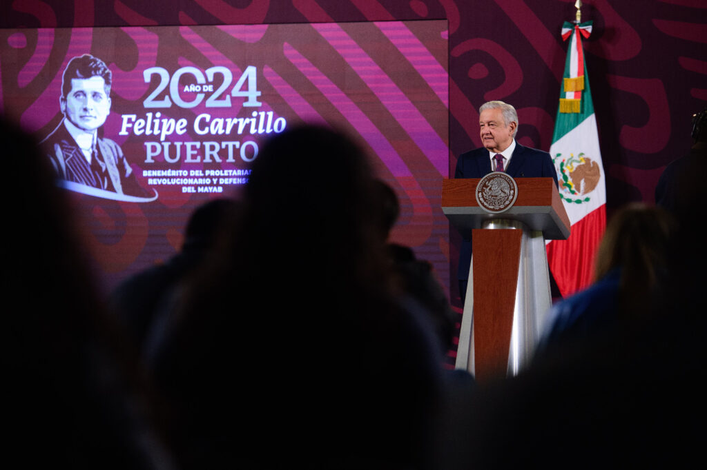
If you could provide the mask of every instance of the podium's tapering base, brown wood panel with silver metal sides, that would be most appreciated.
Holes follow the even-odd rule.
[[[542,232],[518,220],[490,219],[482,227],[473,231],[456,363],[480,382],[520,372],[551,307]]]

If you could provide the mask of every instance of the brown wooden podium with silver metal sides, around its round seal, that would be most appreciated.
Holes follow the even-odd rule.
[[[551,307],[545,240],[564,240],[570,222],[551,178],[519,178],[501,213],[477,203],[480,179],[445,179],[442,210],[472,237],[457,368],[484,382],[515,375],[530,360]]]

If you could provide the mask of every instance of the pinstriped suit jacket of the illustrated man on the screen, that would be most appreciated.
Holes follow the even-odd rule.
[[[144,193],[120,146],[110,139],[99,137],[96,140],[98,159],[93,165],[86,161],[76,140],[64,126],[64,121],[59,123],[40,145],[47,152],[47,157],[60,179],[118,194]]]

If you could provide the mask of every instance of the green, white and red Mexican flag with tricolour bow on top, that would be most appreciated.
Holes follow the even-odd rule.
[[[570,41],[550,155],[571,235],[548,243],[547,260],[563,297],[592,283],[594,258],[607,224],[604,167],[582,49],[582,39],[591,32],[591,21],[562,27],[563,40]]]

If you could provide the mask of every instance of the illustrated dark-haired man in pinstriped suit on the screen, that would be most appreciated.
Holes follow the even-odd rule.
[[[119,145],[98,137],[98,128],[110,114],[111,77],[110,69],[97,57],[83,54],[71,59],[59,98],[64,119],[40,145],[60,179],[142,196],[144,191]]]

